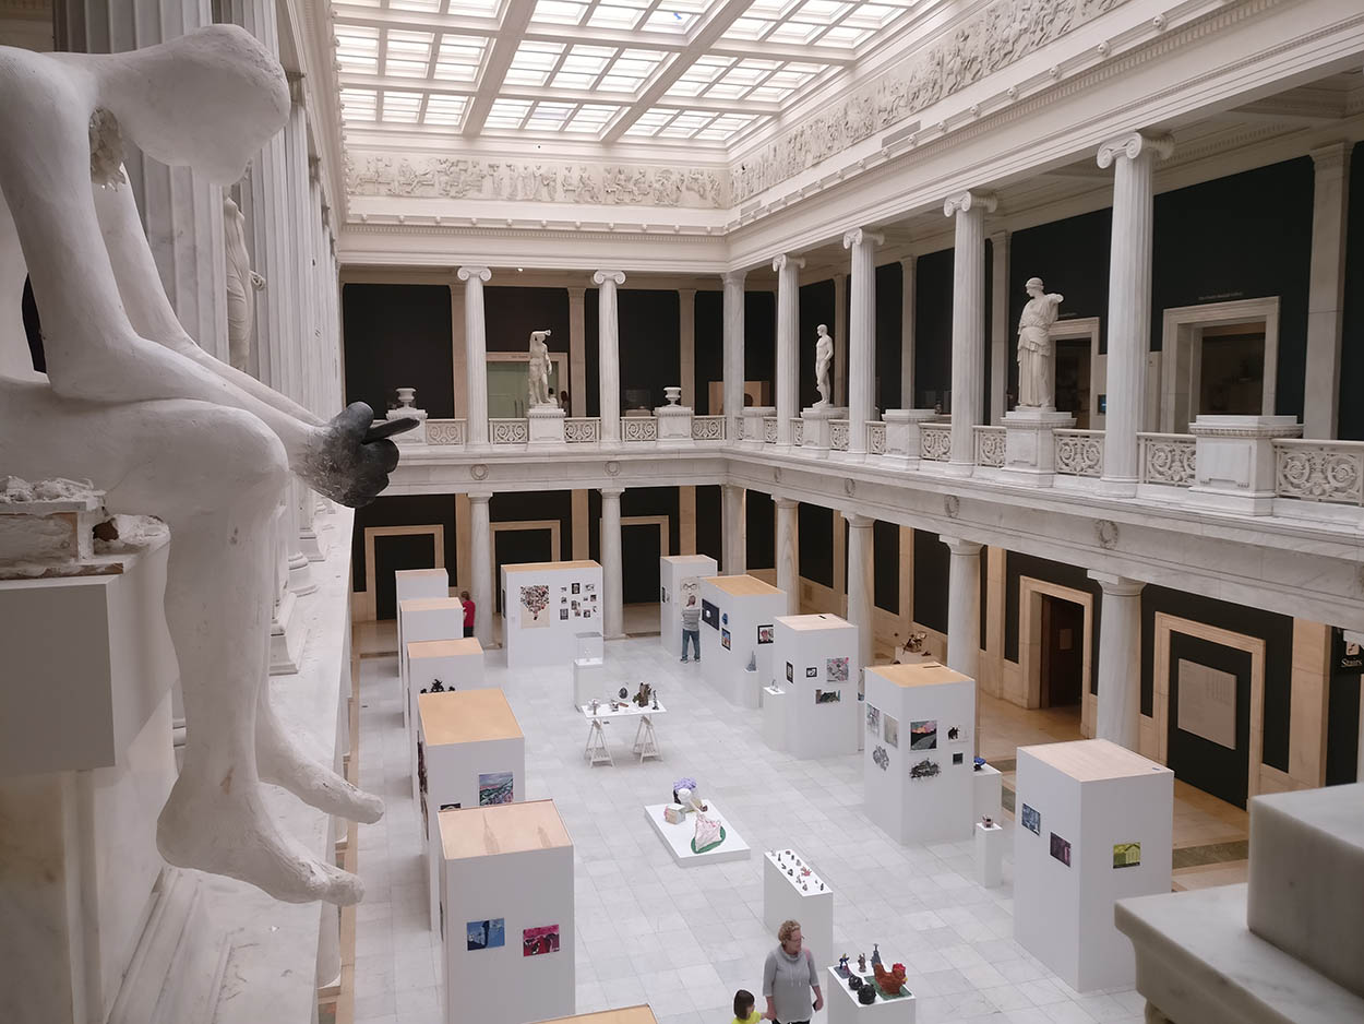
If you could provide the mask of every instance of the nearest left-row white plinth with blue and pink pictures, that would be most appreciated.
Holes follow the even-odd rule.
[[[554,801],[442,811],[441,840],[447,1024],[572,1014],[573,840]]]

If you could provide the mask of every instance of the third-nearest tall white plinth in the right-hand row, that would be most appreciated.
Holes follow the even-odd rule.
[[[787,691],[782,750],[795,758],[857,754],[857,627],[833,614],[777,616],[775,625],[772,674]]]

